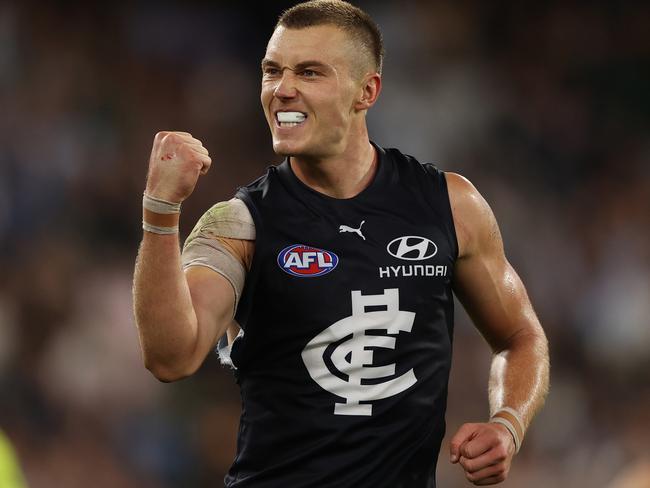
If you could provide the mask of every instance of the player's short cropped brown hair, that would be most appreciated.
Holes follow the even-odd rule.
[[[285,10],[278,23],[288,29],[317,25],[334,25],[348,33],[372,59],[377,73],[384,64],[384,41],[381,31],[366,12],[343,0],[310,0]]]

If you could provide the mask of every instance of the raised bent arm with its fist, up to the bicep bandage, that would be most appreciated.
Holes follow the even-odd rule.
[[[194,190],[211,160],[201,142],[185,132],[154,139],[145,194],[172,204]],[[177,228],[179,213],[143,209],[145,230],[133,280],[133,304],[145,367],[161,381],[194,373],[231,323],[230,283],[202,267],[184,273]],[[155,206],[155,205],[154,205]],[[167,230],[165,230],[165,228]],[[171,233],[159,233],[171,232]]]

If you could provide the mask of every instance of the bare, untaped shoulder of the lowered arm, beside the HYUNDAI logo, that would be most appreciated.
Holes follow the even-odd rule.
[[[492,209],[476,187],[457,173],[445,173],[445,177],[459,258],[478,253],[485,246],[501,246],[501,234]]]

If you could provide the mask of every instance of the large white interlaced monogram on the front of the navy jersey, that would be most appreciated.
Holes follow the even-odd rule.
[[[366,312],[368,307],[373,310]],[[411,332],[414,320],[414,312],[399,309],[399,289],[385,289],[380,295],[362,295],[355,290],[352,315],[309,341],[302,351],[309,375],[323,389],[346,400],[334,403],[334,415],[372,415],[372,404],[368,402],[397,395],[417,382],[413,369],[396,377],[394,363],[373,366],[371,349],[395,349],[395,336]],[[386,331],[387,335],[366,335],[369,330]],[[330,371],[326,356],[340,375]]]

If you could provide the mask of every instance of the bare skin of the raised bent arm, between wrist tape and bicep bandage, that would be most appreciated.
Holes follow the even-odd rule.
[[[194,373],[231,322],[234,292],[204,267],[181,269],[175,235],[144,233],[133,299],[145,367],[162,381]]]

